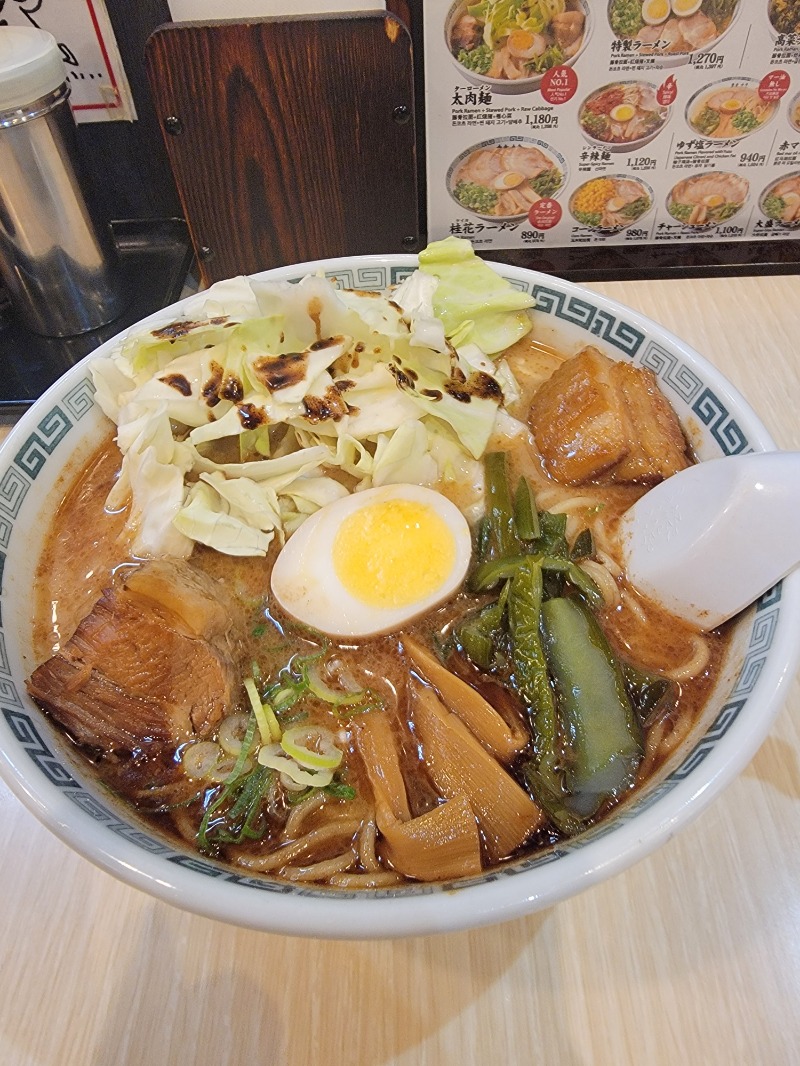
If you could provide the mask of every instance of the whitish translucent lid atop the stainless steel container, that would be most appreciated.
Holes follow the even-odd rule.
[[[55,37],[33,27],[0,28],[0,111],[27,108],[66,81]]]

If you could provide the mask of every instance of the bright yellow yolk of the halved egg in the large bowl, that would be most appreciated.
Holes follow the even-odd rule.
[[[333,544],[336,576],[370,607],[405,607],[444,583],[455,562],[446,522],[412,500],[369,504],[349,515]]]

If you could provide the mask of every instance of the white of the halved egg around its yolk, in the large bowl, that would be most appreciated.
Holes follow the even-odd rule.
[[[370,504],[407,500],[430,507],[450,531],[452,566],[430,594],[381,608],[353,596],[336,575],[333,548],[341,523]],[[464,580],[471,554],[466,519],[447,497],[420,485],[382,485],[353,492],[310,515],[287,540],[272,569],[272,594],[287,614],[330,636],[358,639],[400,629],[448,599]]]

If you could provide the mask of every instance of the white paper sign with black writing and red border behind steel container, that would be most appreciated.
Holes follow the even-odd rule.
[[[59,43],[79,123],[137,117],[102,0],[0,0],[0,27],[32,26]]]

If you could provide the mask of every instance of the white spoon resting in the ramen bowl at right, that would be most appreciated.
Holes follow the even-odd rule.
[[[623,515],[620,536],[635,588],[714,629],[800,564],[800,452],[682,470]]]

